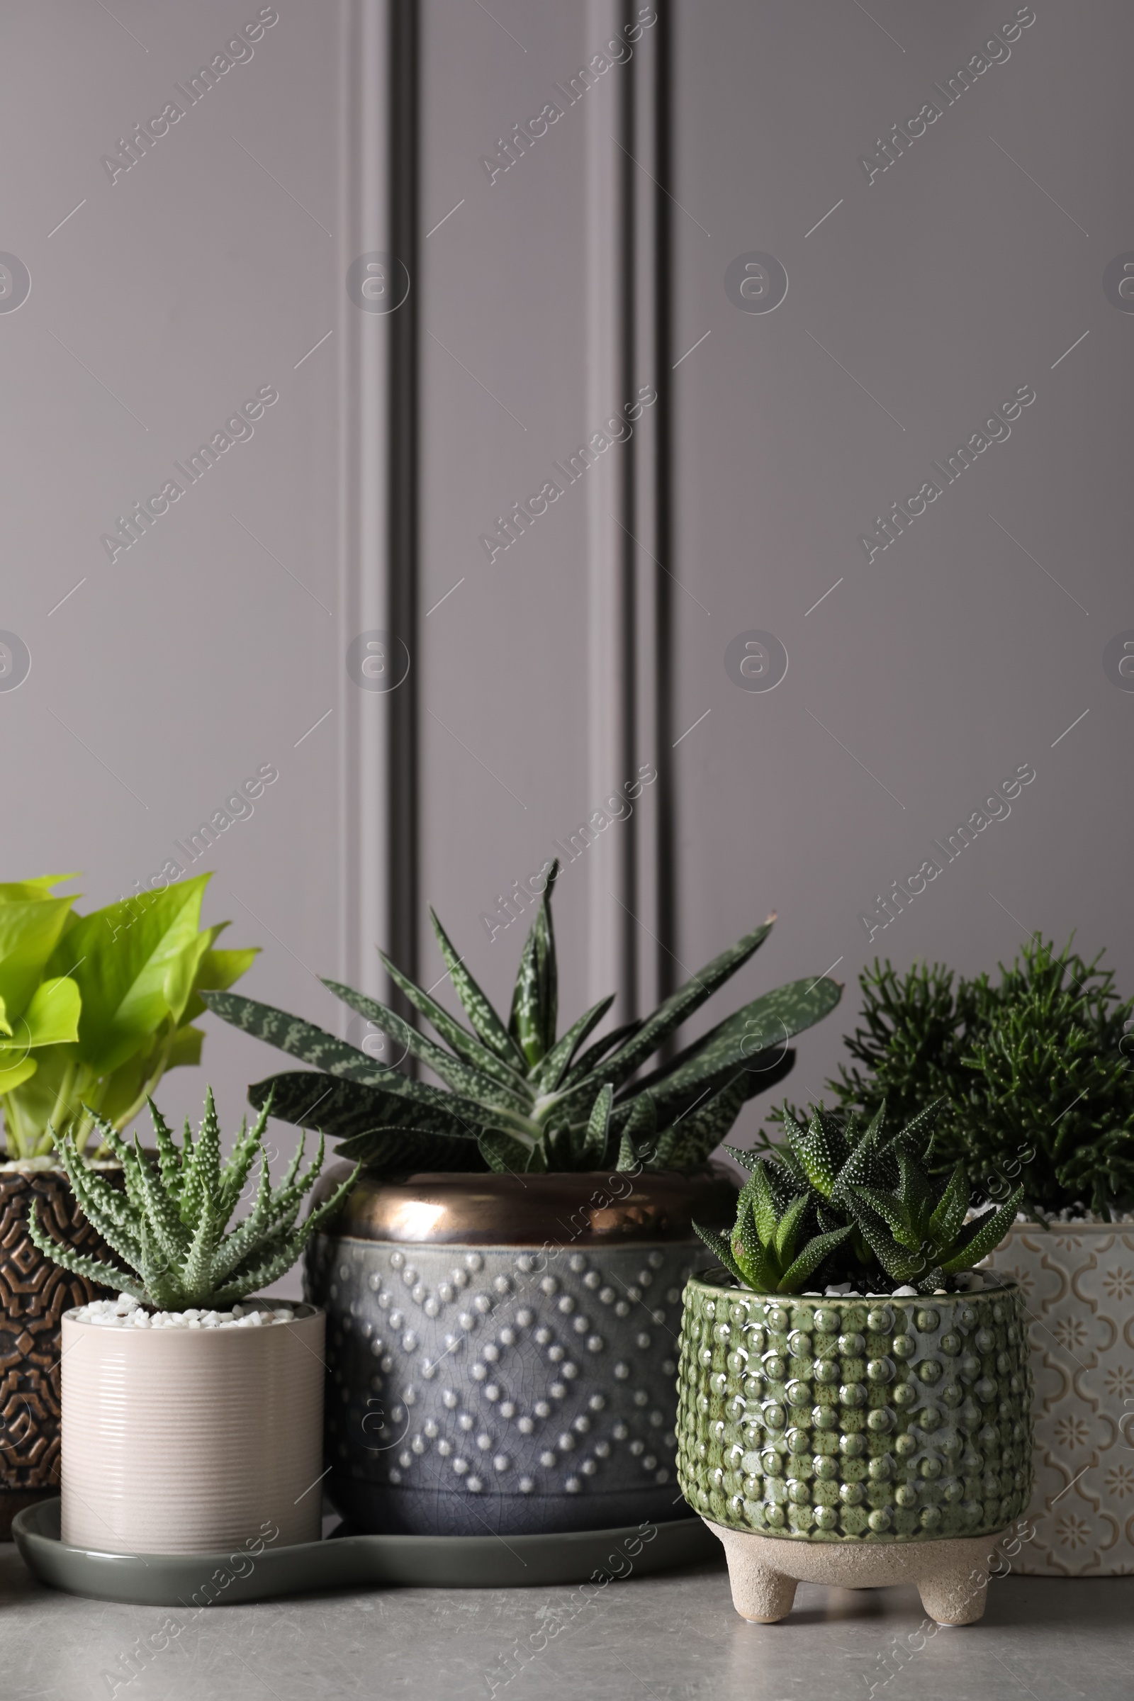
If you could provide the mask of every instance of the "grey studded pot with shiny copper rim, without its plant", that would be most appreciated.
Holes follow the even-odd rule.
[[[320,1182],[325,1196],[345,1172]],[[326,1492],[359,1529],[529,1534],[682,1517],[682,1291],[711,1172],[362,1177],[313,1237]]]

